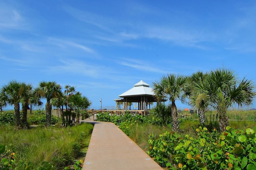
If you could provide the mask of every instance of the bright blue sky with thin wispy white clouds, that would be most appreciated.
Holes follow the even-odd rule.
[[[253,0],[0,0],[0,87],[56,81],[99,109],[171,73],[224,66],[255,82],[255,16]]]

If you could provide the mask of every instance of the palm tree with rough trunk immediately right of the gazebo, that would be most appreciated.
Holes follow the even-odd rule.
[[[184,100],[188,80],[185,76],[168,74],[163,76],[160,82],[153,82],[153,91],[156,94],[158,102],[163,98],[169,98],[172,110],[172,129],[179,130],[178,111],[175,104],[176,100]]]

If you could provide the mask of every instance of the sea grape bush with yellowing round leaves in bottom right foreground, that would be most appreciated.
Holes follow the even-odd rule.
[[[148,154],[162,167],[194,170],[256,170],[256,127],[246,131],[226,127],[219,134],[206,127],[196,137],[166,132],[150,135]]]

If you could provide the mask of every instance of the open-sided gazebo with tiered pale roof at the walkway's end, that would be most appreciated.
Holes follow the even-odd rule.
[[[138,104],[138,110],[134,110],[134,112],[137,111],[146,115],[148,104],[150,102],[157,102],[153,89],[149,86],[149,84],[140,80],[140,82],[134,84],[133,88],[119,95],[122,99],[115,99],[114,101],[116,101],[117,106],[119,102],[123,102],[124,110],[128,110],[128,102],[135,103],[135,106]],[[162,100],[162,102],[164,101],[166,100]]]

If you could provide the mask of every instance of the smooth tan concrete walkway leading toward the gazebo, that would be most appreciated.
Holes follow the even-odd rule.
[[[83,170],[163,170],[114,123],[94,123]]]

